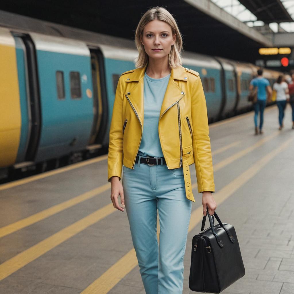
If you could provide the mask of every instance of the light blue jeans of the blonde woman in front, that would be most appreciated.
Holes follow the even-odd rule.
[[[135,163],[123,166],[123,193],[133,245],[146,294],[182,294],[183,259],[192,201],[183,168]],[[160,234],[156,234],[157,209]]]

